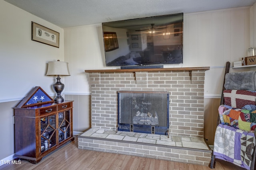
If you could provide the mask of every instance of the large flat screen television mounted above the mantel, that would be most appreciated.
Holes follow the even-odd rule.
[[[106,66],[183,63],[183,13],[102,23]]]

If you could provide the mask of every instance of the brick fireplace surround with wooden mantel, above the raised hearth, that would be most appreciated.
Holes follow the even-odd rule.
[[[118,91],[170,93],[170,135],[204,137],[204,72],[208,67],[88,70],[92,127],[116,129]]]

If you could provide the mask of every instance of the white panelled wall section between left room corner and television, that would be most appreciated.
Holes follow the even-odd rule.
[[[65,94],[90,94],[89,76],[84,70],[104,67],[101,24],[64,29],[64,58],[72,76],[65,77]]]

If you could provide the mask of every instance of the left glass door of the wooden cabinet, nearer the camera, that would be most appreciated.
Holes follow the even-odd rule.
[[[56,145],[56,114],[40,118],[41,152]]]

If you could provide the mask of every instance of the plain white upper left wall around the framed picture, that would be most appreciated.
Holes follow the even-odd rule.
[[[54,94],[48,61],[64,61],[64,31],[3,0],[0,1],[0,102],[21,99],[34,87]],[[31,21],[60,33],[60,48],[31,40]],[[63,79],[64,82],[64,79]]]

